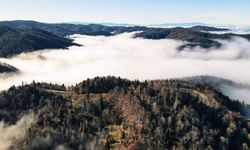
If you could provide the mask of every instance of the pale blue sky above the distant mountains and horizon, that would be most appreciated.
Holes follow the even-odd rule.
[[[250,25],[250,0],[0,0],[0,20]]]

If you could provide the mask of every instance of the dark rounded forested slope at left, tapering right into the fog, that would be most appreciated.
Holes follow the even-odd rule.
[[[42,49],[67,48],[76,45],[70,39],[40,29],[14,29],[0,26],[0,57]]]

